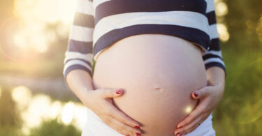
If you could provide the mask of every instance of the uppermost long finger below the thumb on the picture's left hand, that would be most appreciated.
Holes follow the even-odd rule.
[[[126,123],[129,126],[132,127],[139,127],[140,124],[137,121],[134,121],[133,119],[131,119],[129,116],[127,116],[126,114],[124,114],[124,112],[120,111],[119,109],[117,109],[115,106],[110,107],[110,115],[112,117],[114,117],[115,119]]]

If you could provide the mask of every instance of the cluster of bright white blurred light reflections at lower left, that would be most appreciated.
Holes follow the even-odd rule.
[[[1,87],[0,87],[1,94]],[[52,100],[43,93],[33,95],[26,86],[16,86],[12,90],[12,98],[17,104],[22,120],[22,133],[29,135],[30,128],[39,126],[48,119],[58,119],[58,122],[66,125],[73,124],[79,130],[85,127],[87,121],[86,107],[81,103],[68,101],[62,103]]]

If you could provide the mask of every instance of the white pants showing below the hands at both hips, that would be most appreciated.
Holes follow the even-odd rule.
[[[175,126],[174,126],[175,127]],[[97,116],[91,109],[87,108],[87,123],[81,136],[124,136],[116,130],[110,128]],[[212,113],[208,116],[198,128],[186,136],[215,136],[212,127]]]

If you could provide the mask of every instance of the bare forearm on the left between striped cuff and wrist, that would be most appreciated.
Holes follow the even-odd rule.
[[[82,103],[88,96],[87,92],[94,90],[92,77],[84,70],[72,70],[66,76],[66,81],[68,87],[78,96]]]

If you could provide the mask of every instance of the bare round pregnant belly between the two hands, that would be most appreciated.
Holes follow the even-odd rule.
[[[93,84],[124,90],[114,104],[141,124],[144,136],[173,136],[177,123],[196,106],[191,92],[207,80],[199,47],[174,36],[140,34],[100,54]]]

